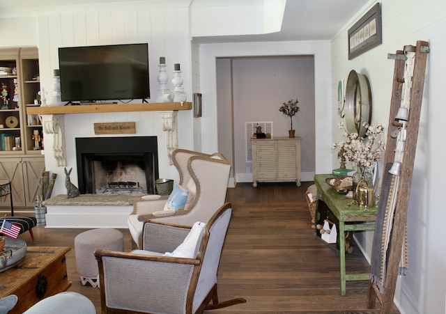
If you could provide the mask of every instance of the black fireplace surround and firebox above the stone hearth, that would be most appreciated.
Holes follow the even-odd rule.
[[[82,137],[76,139],[77,178],[81,194],[97,194],[98,168],[109,176],[113,171],[125,172],[125,168],[136,168],[142,173],[142,181],[128,178],[105,182],[113,190],[136,190],[146,187],[144,194],[155,194],[155,180],[158,178],[158,148],[156,136],[127,137]],[[100,165],[100,166],[98,166]],[[124,170],[123,170],[124,169]],[[137,171],[138,172],[138,171]],[[141,183],[141,184],[140,184]],[[142,191],[142,190],[141,190]],[[116,192],[119,193],[119,192]]]

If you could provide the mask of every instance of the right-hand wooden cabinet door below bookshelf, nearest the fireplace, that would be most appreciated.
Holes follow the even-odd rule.
[[[33,207],[40,195],[40,177],[45,171],[45,159],[39,157],[23,158],[24,199],[26,207]]]

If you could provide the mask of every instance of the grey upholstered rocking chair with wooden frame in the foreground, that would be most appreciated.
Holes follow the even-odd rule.
[[[245,303],[241,298],[219,303],[217,298],[217,270],[231,213],[229,203],[214,212],[190,245],[190,258],[165,252],[175,253],[193,228],[160,221],[144,223],[143,250],[96,250],[102,313],[202,313]]]

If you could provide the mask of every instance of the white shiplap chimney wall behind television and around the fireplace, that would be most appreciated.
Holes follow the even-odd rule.
[[[148,8],[132,7],[107,8],[95,7],[90,10],[74,10],[72,12],[55,12],[38,16],[38,47],[40,56],[41,86],[47,91],[47,97],[52,97],[52,74],[59,68],[59,47],[84,45],[129,44],[148,42],[149,72],[151,100],[157,98],[158,63],[160,56],[166,57],[169,88],[174,70],[174,63],[180,63],[183,71],[183,87],[192,99],[191,47],[189,33],[189,13],[187,8]],[[197,70],[196,70],[197,71]],[[185,75],[186,74],[186,75]],[[141,102],[141,100],[134,100]],[[150,106],[150,104],[147,104]],[[174,166],[167,159],[166,136],[162,132],[162,121],[157,111],[122,112],[122,113],[91,113],[71,114],[65,117],[66,150],[68,167],[73,167],[71,179],[77,182],[77,167],[75,157],[75,138],[95,136],[93,123],[136,122],[136,136],[155,135],[158,139],[160,178],[178,180]],[[192,111],[178,113],[179,146],[193,148]],[[119,134],[114,136],[120,136]],[[45,138],[45,150],[52,151],[52,136]],[[54,195],[63,194],[63,170],[56,166],[51,154],[45,155],[47,170],[61,175]]]

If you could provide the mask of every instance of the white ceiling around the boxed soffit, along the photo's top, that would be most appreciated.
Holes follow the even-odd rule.
[[[141,0],[0,0],[0,17],[34,15],[45,12],[45,8],[63,6],[91,6],[103,3],[129,3]],[[146,2],[171,0],[144,0]],[[209,4],[227,5],[228,0],[206,0]],[[205,1],[205,3],[206,3]],[[258,4],[259,0],[245,0]],[[197,42],[247,42],[247,41],[289,41],[289,40],[330,40],[370,0],[288,0],[282,22],[282,30],[249,36],[213,36],[194,38]],[[187,4],[193,0],[176,0]],[[203,0],[201,0],[203,3]],[[231,1],[229,1],[231,3]],[[0,20],[1,24],[1,20]]]

